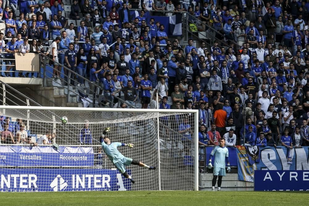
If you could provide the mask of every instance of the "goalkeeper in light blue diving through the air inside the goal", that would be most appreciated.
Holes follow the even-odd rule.
[[[127,147],[134,147],[133,144],[125,144],[120,142],[113,142],[111,143],[111,140],[106,134],[109,132],[110,128],[107,127],[104,129],[103,134],[100,137],[100,143],[102,145],[102,148],[104,150],[104,153],[108,156],[108,158],[112,161],[113,165],[119,170],[123,176],[126,178],[129,178],[131,182],[134,184],[135,181],[133,178],[127,173],[125,170],[126,165],[138,165],[140,167],[146,167],[148,170],[155,170],[156,168],[153,166],[147,166],[142,162],[137,162],[131,158],[127,158],[123,156],[117,149],[119,146],[127,146]]]

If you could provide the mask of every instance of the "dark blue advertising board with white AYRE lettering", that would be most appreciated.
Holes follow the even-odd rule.
[[[309,191],[309,170],[255,170],[255,191]]]

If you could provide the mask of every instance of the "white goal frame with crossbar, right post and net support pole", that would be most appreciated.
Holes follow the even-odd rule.
[[[28,106],[3,106],[0,105],[0,109],[18,109],[18,110],[58,110],[58,111],[110,111],[110,112],[162,112],[162,113],[193,113],[194,114],[194,190],[199,190],[199,169],[198,169],[198,110],[185,110],[185,109],[123,109],[123,108],[83,108],[83,107],[28,107]],[[155,118],[155,117],[154,117]],[[69,120],[70,121],[70,120]],[[157,117],[159,122],[159,116]],[[158,141],[159,141],[159,124],[158,125]],[[161,181],[160,181],[160,148],[158,147],[158,170],[159,170],[159,190],[161,190]]]

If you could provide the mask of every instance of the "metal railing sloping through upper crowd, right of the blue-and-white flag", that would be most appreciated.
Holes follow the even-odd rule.
[[[203,36],[203,38],[200,38],[199,36],[194,34],[195,32],[190,31],[189,17],[190,17],[190,19],[194,19],[195,21],[201,22],[201,24],[205,26],[206,36],[204,34],[200,33],[200,35]],[[208,24],[203,23],[200,19],[197,19],[195,16],[187,13],[185,21],[186,21],[186,23],[184,25],[186,26],[186,31],[187,32],[185,32],[184,40],[188,40],[189,39],[188,34],[190,34],[191,36],[195,36],[195,37],[199,38],[201,41],[205,42],[205,44],[207,44],[209,48],[213,46],[214,41],[218,41],[222,46],[227,46],[227,47],[230,46],[229,44],[227,44],[224,41],[224,37],[225,37],[224,34],[218,32],[214,28],[210,27]],[[209,36],[207,36],[207,33],[211,34],[211,38],[209,38]],[[220,39],[217,36],[220,36]],[[207,42],[206,41],[207,39],[210,40],[210,42]],[[235,44],[235,46],[241,47],[241,45],[237,44],[237,42],[235,42],[233,40],[229,40],[229,41],[232,42],[233,44]]]

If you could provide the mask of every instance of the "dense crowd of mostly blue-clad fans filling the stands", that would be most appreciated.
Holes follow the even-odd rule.
[[[0,49],[8,64],[18,51],[44,53],[48,45],[53,78],[61,78],[57,62],[65,64],[94,83],[91,91],[101,86],[110,107],[124,93],[121,107],[141,99],[147,108],[158,92],[161,109],[198,109],[201,145],[218,145],[221,137],[228,146],[309,145],[308,0],[74,0],[68,18],[60,0],[0,4],[6,25]],[[187,12],[191,23],[219,31],[229,47],[214,41],[207,48],[203,40],[198,47],[193,39],[180,45],[155,16],[146,19],[149,10]],[[5,48],[3,36],[11,38]],[[244,126],[247,107],[252,114]],[[178,130],[190,139],[192,122],[183,119]]]

